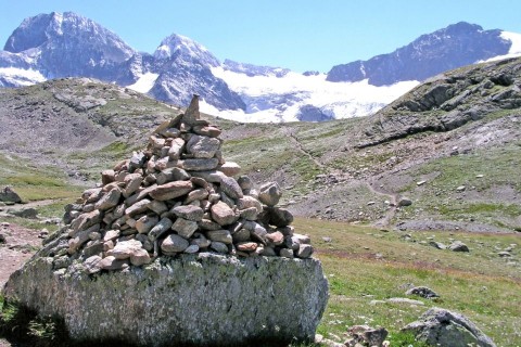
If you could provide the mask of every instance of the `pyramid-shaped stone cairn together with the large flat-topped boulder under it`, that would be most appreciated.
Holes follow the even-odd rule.
[[[240,167],[224,159],[220,132],[200,119],[194,97],[145,151],[65,207],[65,227],[12,275],[8,300],[92,342],[312,339],[328,290],[309,237],[277,206],[277,183],[257,192],[233,178]]]

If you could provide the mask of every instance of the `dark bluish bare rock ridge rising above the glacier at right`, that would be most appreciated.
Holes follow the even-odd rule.
[[[333,66],[327,79],[369,79],[373,86],[404,80],[421,81],[448,69],[506,54],[511,42],[504,40],[500,33],[498,29],[483,30],[479,25],[460,22],[422,35],[393,53]]]

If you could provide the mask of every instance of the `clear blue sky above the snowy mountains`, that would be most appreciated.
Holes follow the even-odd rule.
[[[170,34],[219,60],[328,72],[449,24],[521,33],[519,0],[0,0],[0,44],[29,16],[73,11],[152,53]]]

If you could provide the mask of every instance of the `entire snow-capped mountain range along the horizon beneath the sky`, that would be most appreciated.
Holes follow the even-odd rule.
[[[0,51],[0,87],[58,77],[93,77],[153,98],[239,121],[322,121],[372,114],[443,70],[521,55],[521,34],[458,23],[422,35],[393,53],[334,66],[328,74],[225,60],[180,35],[153,54],[75,13],[23,21]]]

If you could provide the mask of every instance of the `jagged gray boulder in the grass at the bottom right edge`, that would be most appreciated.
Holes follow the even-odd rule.
[[[407,324],[403,331],[414,332],[417,340],[432,346],[496,346],[467,317],[436,307],[429,309],[418,321]]]

